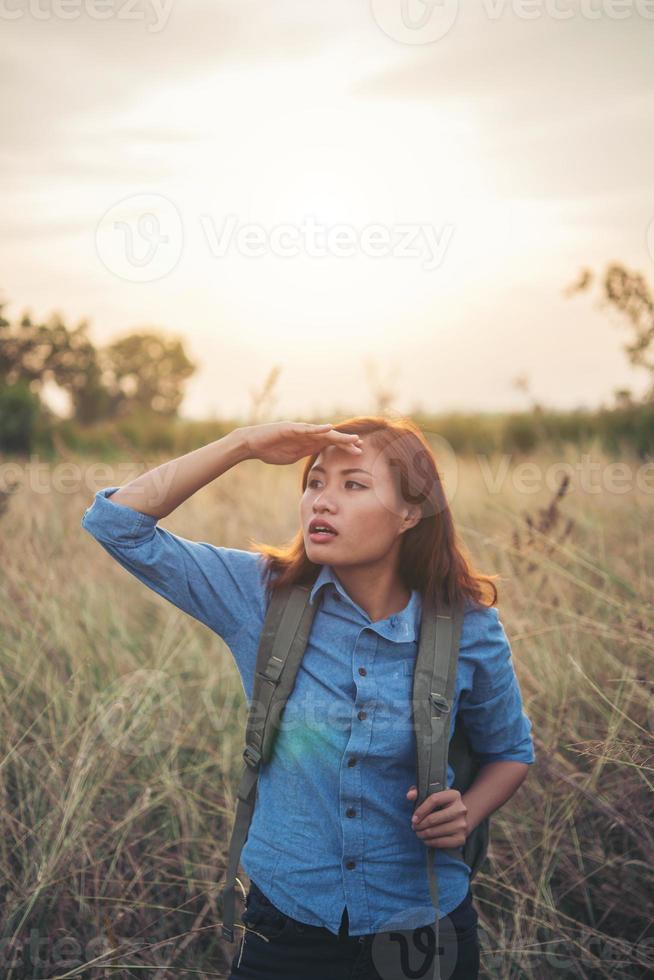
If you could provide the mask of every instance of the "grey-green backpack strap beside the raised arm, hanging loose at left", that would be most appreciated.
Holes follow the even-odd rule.
[[[264,619],[254,672],[252,701],[245,731],[245,766],[237,793],[236,816],[229,842],[223,888],[222,936],[234,942],[235,885],[241,851],[256,804],[261,763],[272,755],[279,719],[295,685],[317,605],[310,588],[287,586],[273,591]]]

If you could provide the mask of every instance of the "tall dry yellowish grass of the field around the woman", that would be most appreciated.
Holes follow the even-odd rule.
[[[95,489],[160,461],[126,460],[129,474],[71,456],[38,479],[23,465],[0,497],[3,980],[228,972],[220,893],[246,720],[236,668],[80,527]],[[502,576],[537,753],[492,817],[473,886],[488,977],[644,977],[654,965],[654,467],[622,460],[623,492],[615,462],[599,448],[472,456],[448,478],[476,563]],[[229,547],[281,542],[298,487],[299,464],[248,461],[163,523]]]

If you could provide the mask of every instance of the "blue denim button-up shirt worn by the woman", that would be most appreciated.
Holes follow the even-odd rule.
[[[266,612],[258,552],[179,537],[99,490],[82,526],[132,575],[222,637],[252,701]],[[338,934],[434,920],[425,844],[411,827],[416,782],[411,695],[421,596],[372,622],[323,565],[319,603],[274,753],[259,775],[241,864],[282,912]],[[451,712],[482,762],[535,762],[512,653],[496,607],[469,605]],[[448,786],[454,772],[448,765]],[[466,896],[470,869],[435,848],[439,917]]]

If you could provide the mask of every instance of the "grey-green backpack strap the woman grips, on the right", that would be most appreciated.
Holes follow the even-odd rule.
[[[446,606],[423,595],[418,654],[413,674],[413,725],[416,736],[418,790],[416,807],[432,793],[447,788],[450,713],[454,700],[463,607]],[[429,890],[436,914],[438,946],[438,884],[435,848],[426,847]],[[462,848],[441,848],[461,859]]]

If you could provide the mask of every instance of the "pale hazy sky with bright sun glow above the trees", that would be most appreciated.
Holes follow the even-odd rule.
[[[188,418],[638,395],[654,0],[3,0],[5,314],[180,337]],[[528,392],[516,386],[526,377]],[[49,392],[53,407],[64,400]]]

